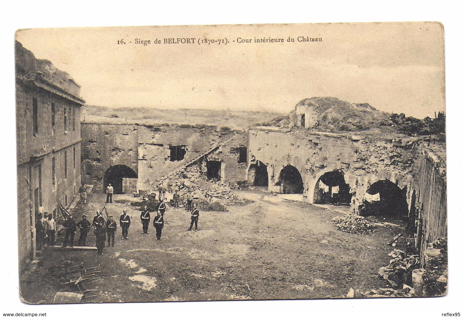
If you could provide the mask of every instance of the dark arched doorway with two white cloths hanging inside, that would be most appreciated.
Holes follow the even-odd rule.
[[[350,205],[350,186],[339,170],[329,171],[320,176],[313,193],[314,204]]]

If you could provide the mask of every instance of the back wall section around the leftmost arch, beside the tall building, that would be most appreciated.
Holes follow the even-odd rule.
[[[138,129],[135,124],[81,123],[82,182],[102,190],[105,171],[126,165],[138,174]]]

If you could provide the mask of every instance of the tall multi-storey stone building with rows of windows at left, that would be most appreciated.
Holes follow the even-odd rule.
[[[15,43],[19,268],[36,255],[39,212],[57,216],[81,185],[80,86]]]

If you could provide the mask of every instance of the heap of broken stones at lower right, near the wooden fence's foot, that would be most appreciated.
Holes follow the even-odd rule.
[[[394,288],[412,285],[412,272],[419,268],[419,255],[406,256],[404,251],[394,249],[388,256],[393,259],[388,266],[380,268],[378,274]]]

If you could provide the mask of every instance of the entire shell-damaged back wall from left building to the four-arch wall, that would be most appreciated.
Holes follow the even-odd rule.
[[[247,134],[188,124],[82,122],[82,182],[104,192],[150,189],[150,183],[198,162],[206,179],[246,181]]]

